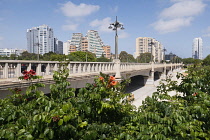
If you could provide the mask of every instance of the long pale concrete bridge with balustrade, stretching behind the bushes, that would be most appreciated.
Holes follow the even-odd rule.
[[[0,98],[4,98],[2,92],[8,88],[25,89],[29,83],[18,80],[22,76],[22,71],[33,69],[37,75],[43,76],[39,81],[46,84],[43,89],[49,93],[49,85],[53,84],[53,72],[61,67],[58,61],[26,61],[26,60],[1,60],[0,61]],[[114,62],[70,62],[68,63],[69,78],[71,87],[82,88],[86,83],[93,83],[94,78],[100,72],[115,75],[117,69],[124,78],[138,79],[143,78],[143,85],[153,84],[155,78],[165,77],[169,71],[182,67],[181,63],[114,63]]]

